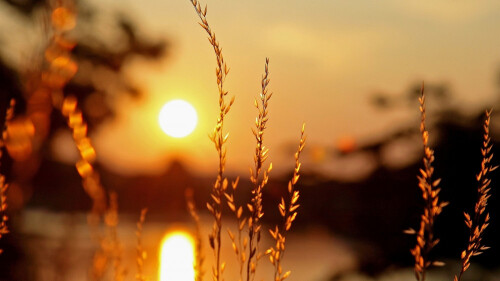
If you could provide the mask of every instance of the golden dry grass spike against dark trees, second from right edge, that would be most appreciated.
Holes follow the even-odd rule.
[[[422,191],[422,198],[425,202],[424,214],[421,215],[420,228],[418,231],[413,229],[407,230],[408,234],[416,234],[417,244],[411,250],[411,254],[415,258],[415,277],[418,281],[424,281],[426,270],[431,266],[443,265],[439,261],[431,261],[429,253],[434,246],[439,242],[439,239],[434,237],[434,222],[436,217],[442,212],[443,208],[448,204],[439,200],[440,179],[434,180],[434,150],[429,147],[429,132],[425,126],[425,95],[424,84],[422,83],[420,102],[420,133],[422,134],[422,142],[424,146],[423,169],[420,169],[418,178],[418,187]]]

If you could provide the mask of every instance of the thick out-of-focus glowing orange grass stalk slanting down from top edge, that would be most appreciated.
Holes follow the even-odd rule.
[[[107,202],[98,173],[93,169],[95,149],[87,137],[87,123],[82,111],[78,108],[74,96],[64,98],[63,88],[73,78],[78,69],[77,63],[71,57],[75,43],[67,39],[66,33],[76,25],[76,12],[72,1],[57,1],[51,10],[52,37],[45,50],[44,58],[48,67],[42,72],[42,89],[49,91],[53,105],[66,117],[68,127],[73,133],[73,140],[80,153],[76,163],[78,173],[82,177],[83,187],[92,198],[92,214],[103,215]]]

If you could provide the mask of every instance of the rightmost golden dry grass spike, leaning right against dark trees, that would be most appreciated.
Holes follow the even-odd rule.
[[[493,158],[493,144],[490,138],[490,117],[491,110],[487,110],[485,113],[485,120],[483,125],[483,146],[481,148],[481,170],[476,176],[478,183],[477,193],[478,199],[474,207],[474,214],[471,216],[464,212],[465,224],[469,229],[469,241],[467,248],[461,254],[461,268],[460,273],[455,275],[454,280],[460,281],[462,275],[470,266],[470,259],[473,256],[480,255],[483,251],[489,249],[489,247],[483,245],[483,234],[489,225],[490,214],[486,212],[486,205],[488,205],[488,199],[490,198],[490,173],[498,168],[498,166],[491,165],[491,159]]]

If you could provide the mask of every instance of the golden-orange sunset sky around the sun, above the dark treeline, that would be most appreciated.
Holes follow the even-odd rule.
[[[139,101],[122,98],[117,118],[92,136],[100,161],[137,174],[162,172],[167,160],[179,158],[193,172],[213,173],[217,157],[207,135],[218,110],[215,58],[191,3],[90,2],[102,13],[103,34],[117,36],[106,18],[118,12],[132,18],[143,36],[171,43],[162,61],[130,62],[127,73],[146,95]],[[466,110],[497,104],[498,1],[205,2],[231,68],[227,90],[236,97],[226,123],[230,171],[247,175],[252,166],[253,99],[266,57],[274,95],[264,142],[276,170],[292,167],[290,147],[298,143],[303,122],[309,149],[304,161],[325,173],[338,166],[336,160],[327,155],[314,162],[312,149],[328,150],[342,139],[374,139],[410,122],[417,128],[417,101],[411,110],[380,111],[370,103],[376,92],[400,96],[415,82],[446,82],[452,104]],[[0,13],[1,18],[8,10]],[[168,137],[158,125],[160,108],[171,99],[185,99],[198,111],[198,127],[186,138]]]

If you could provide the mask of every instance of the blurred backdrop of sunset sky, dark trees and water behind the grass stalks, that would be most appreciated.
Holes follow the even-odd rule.
[[[75,169],[79,153],[71,131],[52,110],[56,102],[32,91],[54,38],[47,19],[50,4],[57,3],[0,1],[0,124],[15,98],[13,123],[32,137],[7,144],[1,158],[0,172],[10,183],[11,233],[0,240],[0,280],[88,280],[97,247],[87,227],[92,203]],[[415,239],[403,230],[418,226],[423,206],[416,178],[423,156],[423,81],[441,198],[450,202],[436,223],[441,242],[434,252],[447,265],[431,278],[451,280],[467,242],[463,212],[472,211],[476,198],[485,109],[493,108],[491,134],[500,155],[500,3],[206,3],[230,67],[226,89],[236,98],[225,130],[227,174],[241,177],[240,204],[251,196],[254,99],[270,58],[274,94],[264,143],[273,171],[264,190],[266,228],[280,222],[277,204],[306,123],[301,207],[285,257],[289,280],[414,278],[409,249]],[[76,22],[64,36],[76,43],[75,68],[61,92],[77,97],[97,153],[95,169],[104,189],[118,194],[128,279],[135,270],[135,223],[147,207],[145,271],[157,280],[163,236],[194,229],[187,188],[194,190],[204,233],[211,227],[204,206],[217,172],[208,138],[219,110],[213,50],[189,1],[81,0],[70,8]],[[159,125],[160,109],[173,99],[188,101],[198,114],[195,130],[184,138],[166,135]],[[46,117],[34,117],[40,115]],[[26,120],[38,120],[34,130]],[[492,222],[484,240],[492,249],[473,260],[464,280],[500,280],[495,173],[492,181]],[[229,212],[226,217],[227,225],[235,223]],[[234,260],[226,245],[226,259]],[[210,272],[208,247],[205,256]],[[266,276],[271,267],[261,264]]]

